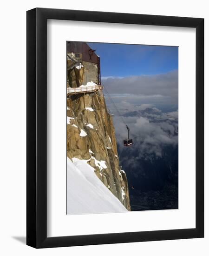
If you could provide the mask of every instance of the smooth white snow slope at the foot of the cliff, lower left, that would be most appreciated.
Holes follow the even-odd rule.
[[[127,212],[87,161],[67,158],[67,214]]]

